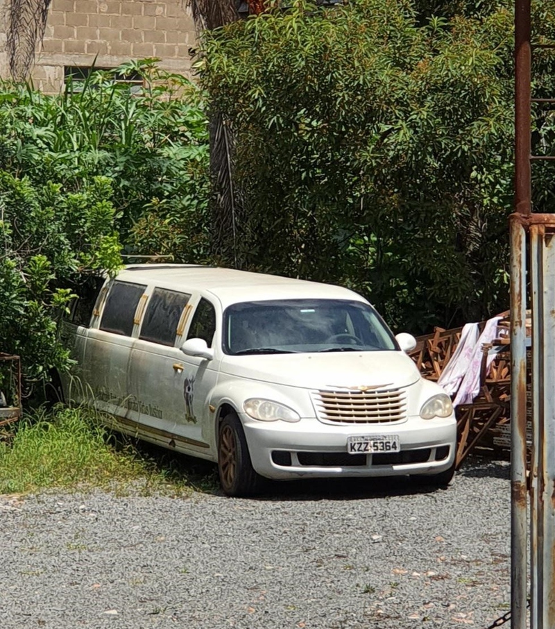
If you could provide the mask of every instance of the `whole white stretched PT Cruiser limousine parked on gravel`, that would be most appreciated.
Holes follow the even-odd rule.
[[[345,288],[192,265],[131,265],[80,299],[66,399],[217,462],[226,494],[273,479],[408,474],[447,485],[456,422],[374,308]]]

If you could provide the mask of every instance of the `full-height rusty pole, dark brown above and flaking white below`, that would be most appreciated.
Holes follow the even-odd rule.
[[[515,0],[515,215],[511,217],[511,627],[526,629],[526,232],[531,212],[530,1]]]

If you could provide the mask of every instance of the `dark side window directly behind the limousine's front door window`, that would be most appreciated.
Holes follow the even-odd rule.
[[[190,295],[155,288],[144,313],[141,336],[145,341],[173,345],[183,308]]]

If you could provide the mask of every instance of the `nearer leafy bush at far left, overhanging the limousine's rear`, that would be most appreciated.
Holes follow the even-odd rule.
[[[58,320],[71,285],[120,263],[110,197],[102,178],[63,194],[0,171],[0,348],[22,355],[27,388],[67,364]]]

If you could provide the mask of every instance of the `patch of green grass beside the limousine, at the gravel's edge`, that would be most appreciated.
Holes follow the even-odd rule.
[[[50,487],[192,491],[182,474],[118,442],[94,410],[62,405],[26,415],[11,442],[0,442],[0,494]]]

